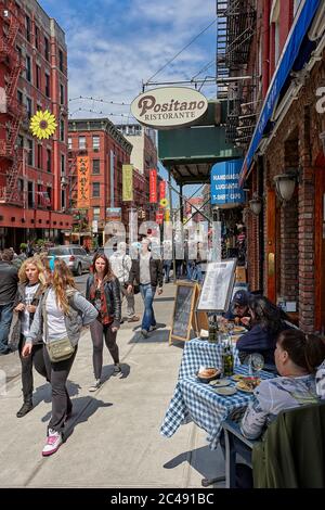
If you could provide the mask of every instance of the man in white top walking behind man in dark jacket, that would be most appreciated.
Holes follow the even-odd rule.
[[[127,291],[129,275],[132,267],[132,259],[130,255],[127,254],[127,243],[120,242],[118,244],[117,251],[109,257],[109,263],[112,270],[120,284],[121,305],[123,304],[123,298],[127,299],[128,322],[138,322],[140,317],[135,316],[134,313],[134,293]]]

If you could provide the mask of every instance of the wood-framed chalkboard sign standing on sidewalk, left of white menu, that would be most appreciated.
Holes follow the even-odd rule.
[[[172,339],[184,341],[190,340],[195,298],[196,283],[177,282],[169,344],[171,344]]]

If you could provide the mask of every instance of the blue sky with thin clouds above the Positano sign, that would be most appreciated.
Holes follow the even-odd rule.
[[[216,18],[216,0],[39,0],[66,35],[69,115],[130,122],[128,104],[167,61]],[[214,76],[216,24],[154,79]],[[204,86],[207,98],[216,86]],[[78,99],[92,97],[105,102]],[[109,102],[126,105],[109,104]],[[81,110],[79,110],[81,109]],[[188,187],[190,188],[190,187]],[[190,191],[193,190],[191,187]]]

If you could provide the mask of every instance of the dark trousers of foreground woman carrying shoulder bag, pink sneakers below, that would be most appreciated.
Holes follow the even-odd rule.
[[[76,346],[70,358],[53,364],[49,358],[47,346],[43,346],[48,378],[52,386],[52,417],[48,429],[52,429],[56,432],[64,431],[66,416],[73,409],[73,403],[66,387],[66,381],[74,364],[77,349],[78,346]]]

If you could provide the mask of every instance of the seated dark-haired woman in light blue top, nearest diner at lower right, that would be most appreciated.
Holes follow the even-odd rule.
[[[281,411],[325,399],[325,393],[320,395],[316,390],[316,370],[324,358],[323,337],[297,329],[280,333],[275,349],[280,377],[262,381],[255,390],[242,419],[242,434],[257,439]],[[243,449],[243,443],[238,447]],[[250,450],[247,451],[250,455]],[[245,452],[242,455],[245,457]],[[238,487],[252,486],[251,470],[247,466],[236,464],[236,479]]]

